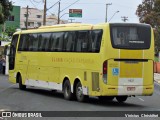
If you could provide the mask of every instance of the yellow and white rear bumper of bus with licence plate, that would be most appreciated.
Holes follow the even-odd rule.
[[[154,86],[108,86],[105,87],[102,96],[121,96],[121,95],[141,95],[150,96],[153,94]]]

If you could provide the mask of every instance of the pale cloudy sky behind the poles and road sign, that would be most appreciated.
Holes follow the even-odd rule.
[[[30,8],[43,9],[43,0],[10,0],[14,5]],[[47,8],[50,8],[59,0],[47,0]],[[75,4],[70,6],[72,3]],[[61,19],[73,19],[73,22],[98,24],[104,23],[106,18],[106,4],[112,3],[107,9],[107,19],[111,23],[123,22],[122,16],[128,17],[129,23],[138,23],[136,9],[142,0],[61,0]],[[67,8],[70,6],[69,8]],[[69,17],[69,9],[82,9],[82,18]],[[119,11],[117,13],[117,11]],[[58,4],[47,11],[47,15],[58,14]],[[70,21],[70,20],[69,20]]]

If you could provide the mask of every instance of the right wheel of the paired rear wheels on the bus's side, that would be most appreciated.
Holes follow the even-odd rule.
[[[88,96],[83,95],[83,89],[81,82],[78,82],[76,85],[76,98],[79,102],[84,102],[88,99]]]

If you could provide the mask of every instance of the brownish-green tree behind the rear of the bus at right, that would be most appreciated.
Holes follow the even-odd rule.
[[[154,28],[155,48],[160,50],[160,0],[143,0],[137,8],[136,15],[141,23]]]

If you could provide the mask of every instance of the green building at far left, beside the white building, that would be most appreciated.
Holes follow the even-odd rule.
[[[1,26],[1,30],[5,31],[7,28],[20,28],[20,6],[13,6],[11,15],[8,20]]]

